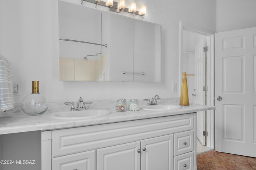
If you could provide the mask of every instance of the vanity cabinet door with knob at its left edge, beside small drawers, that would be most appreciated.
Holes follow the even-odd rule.
[[[172,170],[172,168],[173,135],[141,141],[141,170]]]

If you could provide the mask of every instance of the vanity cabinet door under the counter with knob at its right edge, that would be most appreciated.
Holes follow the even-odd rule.
[[[140,170],[140,141],[97,149],[97,170]]]

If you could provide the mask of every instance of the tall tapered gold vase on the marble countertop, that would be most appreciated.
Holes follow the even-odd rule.
[[[182,72],[182,84],[180,92],[180,105],[189,106],[188,100],[188,83],[187,83],[187,73]]]

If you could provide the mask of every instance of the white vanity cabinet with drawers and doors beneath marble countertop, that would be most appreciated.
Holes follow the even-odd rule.
[[[196,169],[196,113],[47,133],[42,170]]]

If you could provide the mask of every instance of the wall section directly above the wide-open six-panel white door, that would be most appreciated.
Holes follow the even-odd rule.
[[[256,0],[216,0],[216,31],[256,27]]]

